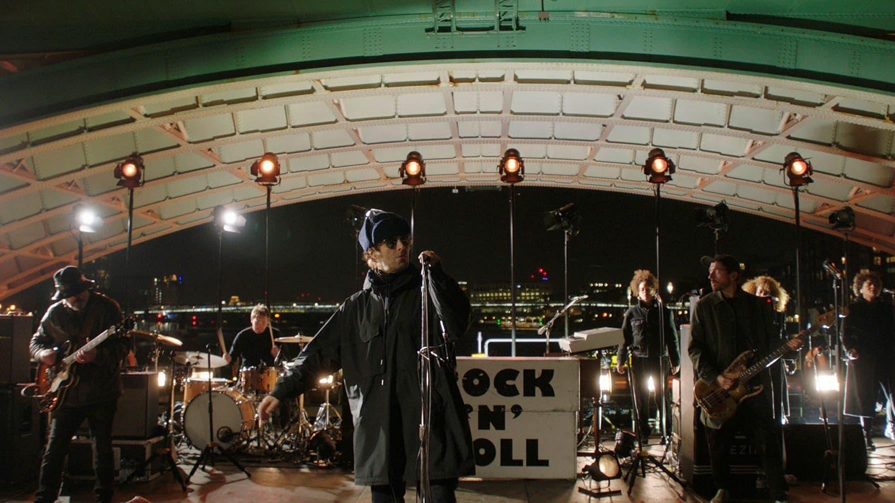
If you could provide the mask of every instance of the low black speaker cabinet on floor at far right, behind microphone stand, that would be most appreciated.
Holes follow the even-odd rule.
[[[857,479],[867,471],[867,451],[864,431],[860,424],[845,424],[845,476]],[[827,450],[827,435],[823,424],[787,424],[783,427],[786,442],[786,473],[799,480],[823,480],[823,454]],[[839,448],[839,426],[830,425],[832,448]],[[835,477],[835,474],[832,475]]]

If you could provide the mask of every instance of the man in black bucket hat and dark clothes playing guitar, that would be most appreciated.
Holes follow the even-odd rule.
[[[114,336],[90,351],[78,348],[110,326],[120,324],[121,309],[106,295],[91,291],[94,282],[76,267],[57,270],[53,282],[56,289],[53,300],[58,302],[47,309],[38,331],[31,337],[31,358],[54,365],[66,356],[59,348],[70,343],[76,355],[71,372],[77,381],[65,389],[61,405],[50,413],[49,439],[34,501],[55,501],[72,435],[85,418],[95,446],[97,501],[111,501],[115,478],[112,420],[121,395],[121,362],[129,345],[125,337]]]

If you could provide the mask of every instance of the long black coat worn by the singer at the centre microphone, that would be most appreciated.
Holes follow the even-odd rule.
[[[431,268],[431,279],[430,299],[437,302],[430,311],[430,340],[434,345],[442,341],[440,319],[448,339],[456,341],[469,328],[469,301],[440,265]],[[354,482],[361,485],[387,484],[389,467],[394,471],[400,457],[405,458],[403,474],[392,473],[393,478],[416,480],[420,283],[412,267],[388,282],[368,273],[363,289],[346,299],[288,364],[271,393],[280,400],[297,396],[314,388],[323,372],[342,369],[354,416]],[[472,474],[473,441],[456,371],[441,362],[433,365],[433,374],[430,478]],[[395,458],[390,449],[401,446],[405,456]]]

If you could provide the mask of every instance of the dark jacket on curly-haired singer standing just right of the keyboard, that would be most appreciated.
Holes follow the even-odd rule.
[[[618,362],[627,360],[627,348],[633,345],[635,356],[657,358],[661,354],[667,354],[672,367],[680,365],[678,328],[675,327],[671,311],[668,308],[662,311],[665,314],[665,351],[661,350],[659,340],[659,304],[655,299],[649,305],[638,300],[636,305],[625,312],[625,320],[621,324],[625,342],[618,345]]]

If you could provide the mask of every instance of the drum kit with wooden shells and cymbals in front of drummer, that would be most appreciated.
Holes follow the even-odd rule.
[[[152,362],[158,371],[158,358],[165,346],[170,353],[170,407],[167,432],[175,448],[202,449],[209,441],[217,442],[228,453],[243,453],[331,465],[337,461],[334,448],[340,439],[341,416],[329,403],[329,392],[341,384],[337,376],[320,379],[316,389],[324,393],[323,403],[314,422],[304,408],[304,396],[288,401],[274,411],[268,422],[260,419],[258,408],[264,396],[273,390],[277,379],[286,373],[286,365],[243,367],[233,379],[213,377],[226,360],[200,351],[179,351],[183,343],[157,332],[133,330],[132,334],[154,340]],[[311,337],[278,337],[282,344],[306,344]],[[179,391],[182,401],[175,401]],[[209,401],[211,413],[209,414]],[[214,439],[209,439],[214,431]],[[315,448],[315,446],[317,446]]]

